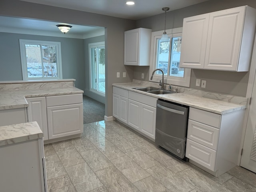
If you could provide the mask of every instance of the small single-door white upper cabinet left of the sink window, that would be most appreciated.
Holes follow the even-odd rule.
[[[151,29],[138,28],[124,32],[124,64],[149,66]]]

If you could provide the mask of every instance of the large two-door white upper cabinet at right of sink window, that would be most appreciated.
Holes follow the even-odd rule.
[[[184,18],[181,67],[248,71],[256,10],[248,6]]]

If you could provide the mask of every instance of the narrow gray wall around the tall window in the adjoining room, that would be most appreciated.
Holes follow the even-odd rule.
[[[85,95],[99,101],[105,103],[105,97],[95,94],[94,92],[90,92],[90,62],[89,62],[89,43],[96,42],[104,42],[105,36],[92,37],[84,40],[84,63],[85,63]]]

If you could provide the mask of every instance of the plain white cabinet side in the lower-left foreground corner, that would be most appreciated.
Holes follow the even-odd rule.
[[[42,138],[0,146],[1,192],[47,192]]]

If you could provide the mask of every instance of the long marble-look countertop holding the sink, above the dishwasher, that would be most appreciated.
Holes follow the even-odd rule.
[[[205,110],[208,112],[213,112],[216,114],[226,114],[226,113],[230,113],[230,112],[234,112],[234,111],[242,110],[246,108],[246,104],[235,104],[231,102],[225,102],[222,100],[215,100],[215,99],[195,96],[192,94],[186,94],[186,93],[173,93],[173,94],[163,94],[163,95],[151,94],[151,93],[133,89],[137,87],[143,87],[141,84],[136,84],[136,83],[113,84],[113,86],[138,92],[140,94],[145,94],[148,96],[168,100],[171,102],[184,104],[193,108]]]

